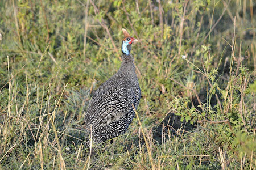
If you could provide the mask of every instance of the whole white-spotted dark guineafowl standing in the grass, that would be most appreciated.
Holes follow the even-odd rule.
[[[141,88],[135,74],[131,45],[138,40],[122,29],[122,63],[117,73],[94,92],[85,112],[85,126],[94,144],[124,134],[133,120],[141,99]],[[134,106],[134,108],[133,108]]]

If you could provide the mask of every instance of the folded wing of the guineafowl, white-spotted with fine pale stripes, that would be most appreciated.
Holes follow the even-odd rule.
[[[133,111],[132,104],[135,104],[135,94],[132,90],[120,87],[118,90],[105,89],[101,94],[94,96],[89,105],[90,124],[100,128],[115,122]]]

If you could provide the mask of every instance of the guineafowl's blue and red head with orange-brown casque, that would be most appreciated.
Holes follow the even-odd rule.
[[[126,31],[126,29],[122,29],[122,31],[123,31],[123,35],[125,35],[122,41],[122,52],[127,56],[129,56],[130,50],[131,50],[131,44],[133,44],[133,42],[137,42],[138,40],[135,39],[134,37],[131,37],[129,33]]]

